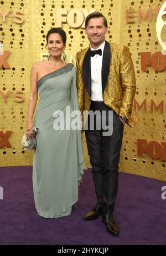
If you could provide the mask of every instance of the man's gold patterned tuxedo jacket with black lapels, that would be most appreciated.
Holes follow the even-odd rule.
[[[80,111],[89,110],[91,103],[90,47],[77,52],[77,92]],[[131,54],[126,46],[106,41],[102,61],[102,93],[104,103],[134,126],[138,116],[133,109],[136,77]]]

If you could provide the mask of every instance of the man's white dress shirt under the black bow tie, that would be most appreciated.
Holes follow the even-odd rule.
[[[94,57],[91,57],[91,100],[92,101],[103,101],[102,98],[102,58],[103,58],[103,49],[105,47],[103,42],[96,50],[101,49],[102,55],[96,54]],[[91,47],[91,51],[94,51]]]

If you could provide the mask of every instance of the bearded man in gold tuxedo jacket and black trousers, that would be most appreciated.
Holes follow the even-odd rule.
[[[119,228],[113,218],[118,163],[125,123],[132,126],[138,121],[132,109],[136,79],[128,48],[105,41],[107,20],[102,13],[94,12],[87,16],[85,33],[90,47],[76,54],[80,111],[106,111],[107,121],[108,112],[112,111],[113,133],[103,135],[102,128],[96,129],[97,123],[93,130],[89,126],[85,130],[97,205],[85,215],[84,220],[94,220],[102,214],[107,232],[118,236]]]

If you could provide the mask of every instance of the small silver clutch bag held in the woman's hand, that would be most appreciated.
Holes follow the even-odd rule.
[[[33,137],[30,137],[27,135],[27,133],[25,133],[22,138],[22,145],[23,145],[24,149],[32,150],[32,149],[37,148],[36,133],[37,133],[38,128],[33,126],[32,130],[35,133],[35,135]]]

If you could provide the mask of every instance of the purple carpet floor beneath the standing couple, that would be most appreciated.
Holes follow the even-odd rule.
[[[160,180],[120,173],[114,216],[120,237],[106,232],[101,217],[84,222],[84,214],[96,204],[91,170],[79,187],[79,201],[68,217],[45,219],[34,206],[32,167],[0,168],[0,244],[166,244],[166,200]]]

